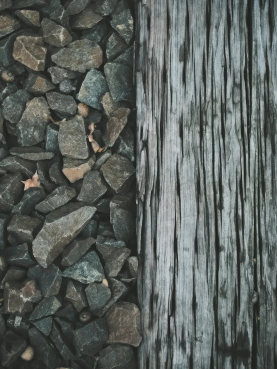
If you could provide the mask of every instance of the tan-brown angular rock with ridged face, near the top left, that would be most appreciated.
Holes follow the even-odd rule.
[[[12,56],[33,70],[44,70],[46,52],[42,37],[28,34],[16,37]]]

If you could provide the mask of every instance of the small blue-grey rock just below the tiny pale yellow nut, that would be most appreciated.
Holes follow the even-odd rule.
[[[110,289],[103,283],[88,284],[85,294],[91,311],[103,307],[111,297]]]

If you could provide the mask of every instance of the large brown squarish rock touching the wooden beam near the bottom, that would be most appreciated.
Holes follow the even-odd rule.
[[[105,319],[108,327],[107,343],[139,345],[142,337],[140,312],[134,303],[115,303],[106,313]]]

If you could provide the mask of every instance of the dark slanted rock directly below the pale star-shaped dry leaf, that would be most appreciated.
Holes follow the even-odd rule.
[[[45,197],[45,192],[39,187],[30,187],[24,191],[23,197],[20,202],[13,206],[11,210],[11,215],[22,214],[28,215],[35,207],[35,205],[40,202]]]

